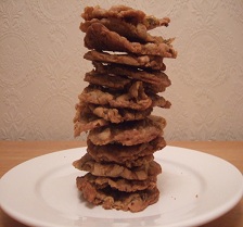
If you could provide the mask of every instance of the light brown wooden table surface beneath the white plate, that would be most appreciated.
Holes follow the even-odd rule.
[[[243,141],[174,141],[169,146],[190,148],[232,163],[243,173]],[[80,141],[0,141],[0,177],[15,165],[53,151],[86,146]],[[0,210],[0,227],[26,227]],[[243,227],[243,199],[227,214],[202,227]]]

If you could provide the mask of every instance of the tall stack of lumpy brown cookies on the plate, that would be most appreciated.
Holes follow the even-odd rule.
[[[80,29],[86,33],[84,55],[93,64],[88,87],[79,94],[75,136],[87,131],[87,153],[73,164],[88,172],[77,177],[82,197],[104,209],[139,212],[157,202],[161,165],[154,152],[166,142],[166,121],[153,108],[168,109],[161,92],[170,86],[164,58],[176,58],[172,39],[149,30],[168,26],[125,5],[88,7]]]

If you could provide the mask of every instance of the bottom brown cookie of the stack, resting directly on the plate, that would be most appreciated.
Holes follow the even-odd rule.
[[[140,212],[156,203],[159,198],[157,187],[135,192],[124,192],[111,187],[99,189],[94,184],[82,177],[77,177],[77,188],[88,202],[94,205],[102,205],[107,210]]]

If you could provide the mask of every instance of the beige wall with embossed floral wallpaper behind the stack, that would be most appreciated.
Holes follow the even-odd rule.
[[[168,140],[243,139],[242,0],[0,1],[0,139],[73,139],[74,105],[84,89],[85,5],[124,3],[171,18],[154,30],[176,37],[177,60],[165,60],[172,81]],[[81,139],[85,138],[85,135]]]

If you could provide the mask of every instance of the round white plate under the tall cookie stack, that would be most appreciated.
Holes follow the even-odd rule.
[[[232,209],[242,198],[242,174],[199,151],[166,147],[159,201],[139,213],[103,210],[85,202],[75,185],[84,172],[72,166],[86,148],[42,155],[17,165],[0,180],[0,205],[13,218],[39,227],[197,226]]]

